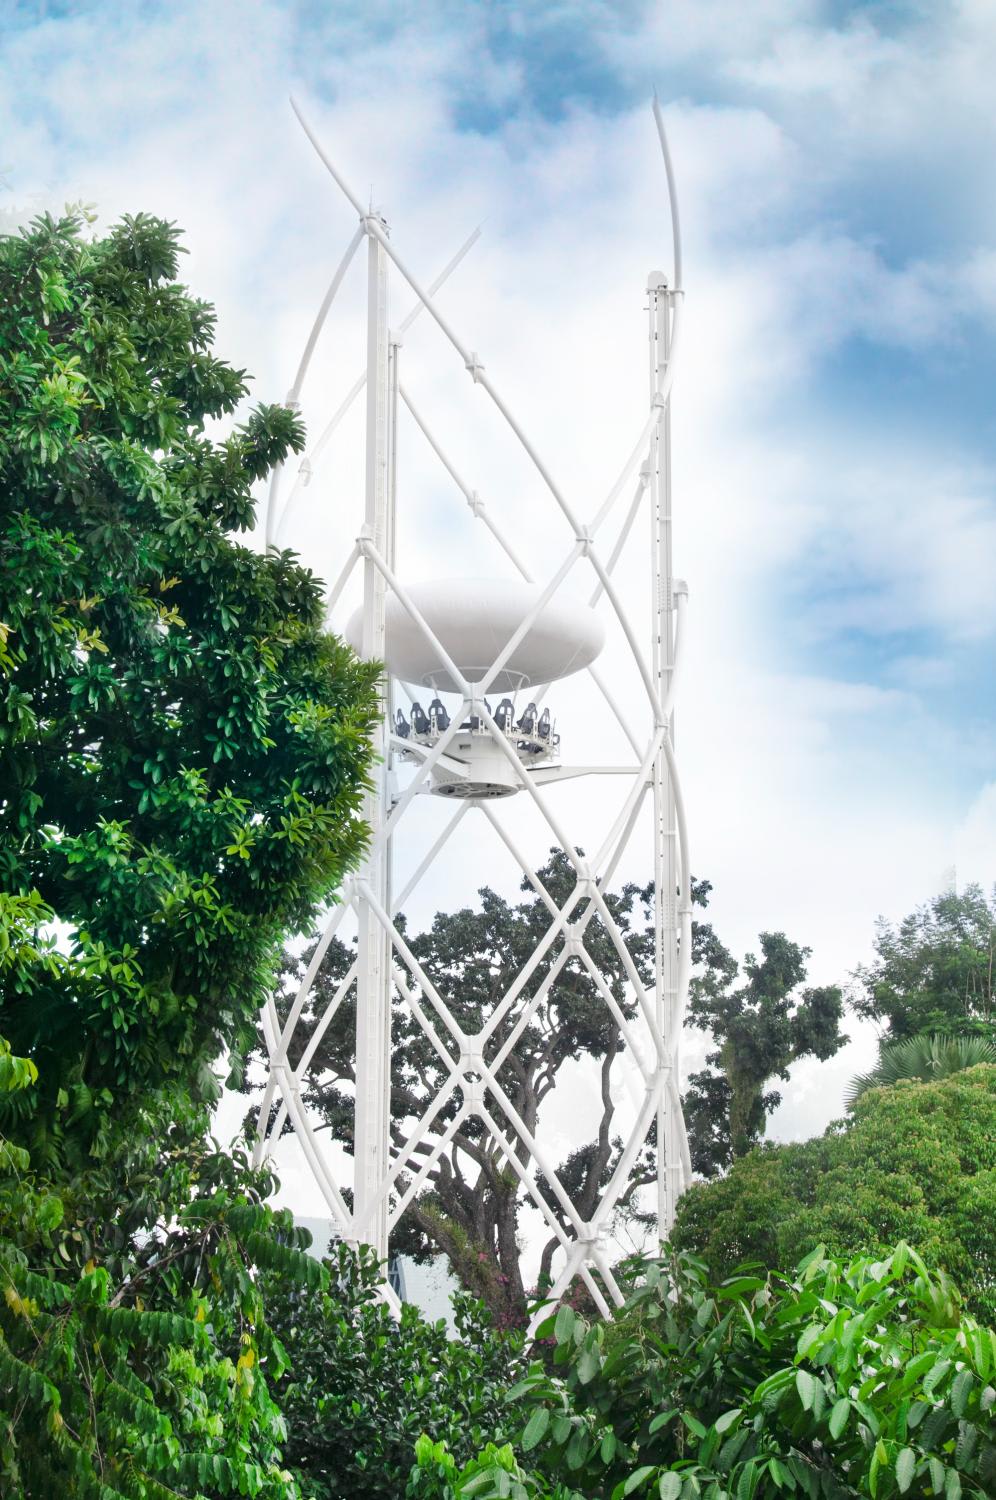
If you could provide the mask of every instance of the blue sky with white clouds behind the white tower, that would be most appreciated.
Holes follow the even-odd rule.
[[[252,399],[290,387],[356,226],[290,93],[424,279],[482,224],[447,315],[584,510],[639,430],[645,278],[669,267],[657,88],[687,288],[678,750],[716,927],[738,954],[784,930],[813,982],[846,984],[878,915],[992,885],[996,8],[0,0],[0,213],[177,220]],[[312,434],[362,369],[362,297],[357,270]],[[528,468],[426,324],[405,369],[472,483],[546,548]],[[322,576],[354,534],[358,435],[344,423],[282,534]],[[404,441],[422,562],[470,567],[470,522]],[[874,1050],[849,1030],[794,1071],[772,1134],[842,1112]]]

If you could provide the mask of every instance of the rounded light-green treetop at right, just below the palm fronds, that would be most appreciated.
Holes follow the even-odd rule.
[[[825,1244],[876,1251],[903,1238],[996,1324],[996,1068],[872,1089],[813,1140],[765,1146],[690,1188],[672,1240],[714,1276],[792,1264]]]

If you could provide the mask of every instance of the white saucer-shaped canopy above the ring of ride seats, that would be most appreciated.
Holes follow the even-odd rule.
[[[405,592],[440,640],[453,664],[470,682],[480,682],[540,598],[542,590],[520,580],[438,579],[405,585]],[[345,638],[354,651],[363,639],[363,610],[346,624]],[[489,693],[514,693],[520,687],[555,682],[580,672],[602,651],[604,627],[586,604],[549,600],[514,648]],[[442,666],[394,594],[387,597],[387,669],[404,682],[418,682],[441,693],[458,692]]]

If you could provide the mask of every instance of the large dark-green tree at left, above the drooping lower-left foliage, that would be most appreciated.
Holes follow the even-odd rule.
[[[318,580],[230,537],[297,417],[208,438],[246,380],[176,228],[84,231],[0,238],[0,882],[60,934],[3,990],[40,1074],[8,1126],[39,1161],[240,1056],[285,934],[362,852],[376,712]]]

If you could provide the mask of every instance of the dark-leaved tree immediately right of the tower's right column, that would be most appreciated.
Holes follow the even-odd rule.
[[[708,1030],[716,1050],[706,1068],[688,1078],[684,1112],[692,1166],[716,1176],[765,1132],[766,1118],[782,1102],[771,1078],[788,1078],[801,1058],[832,1058],[846,1036],[840,1030],[843,998],[837,986],[800,990],[808,948],[784,933],[760,933],[760,957],[740,966],[710,930],[700,939],[700,972],[693,975],[688,1022]]]

